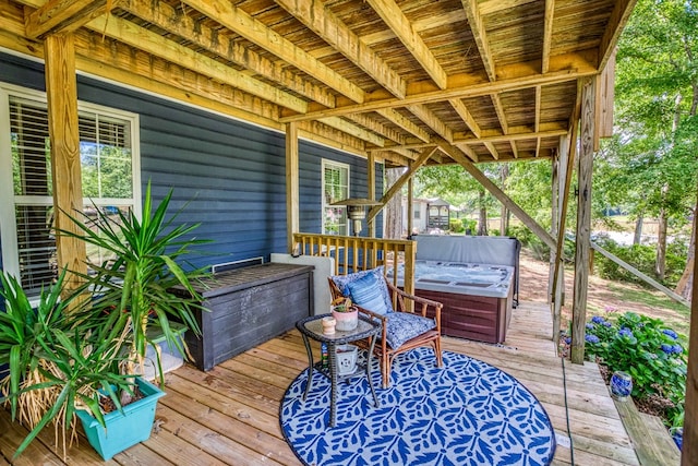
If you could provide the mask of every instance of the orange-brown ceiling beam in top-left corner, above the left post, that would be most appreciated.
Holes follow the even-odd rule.
[[[72,33],[119,5],[119,0],[49,0],[25,22],[25,34],[36,39],[47,34]]]

